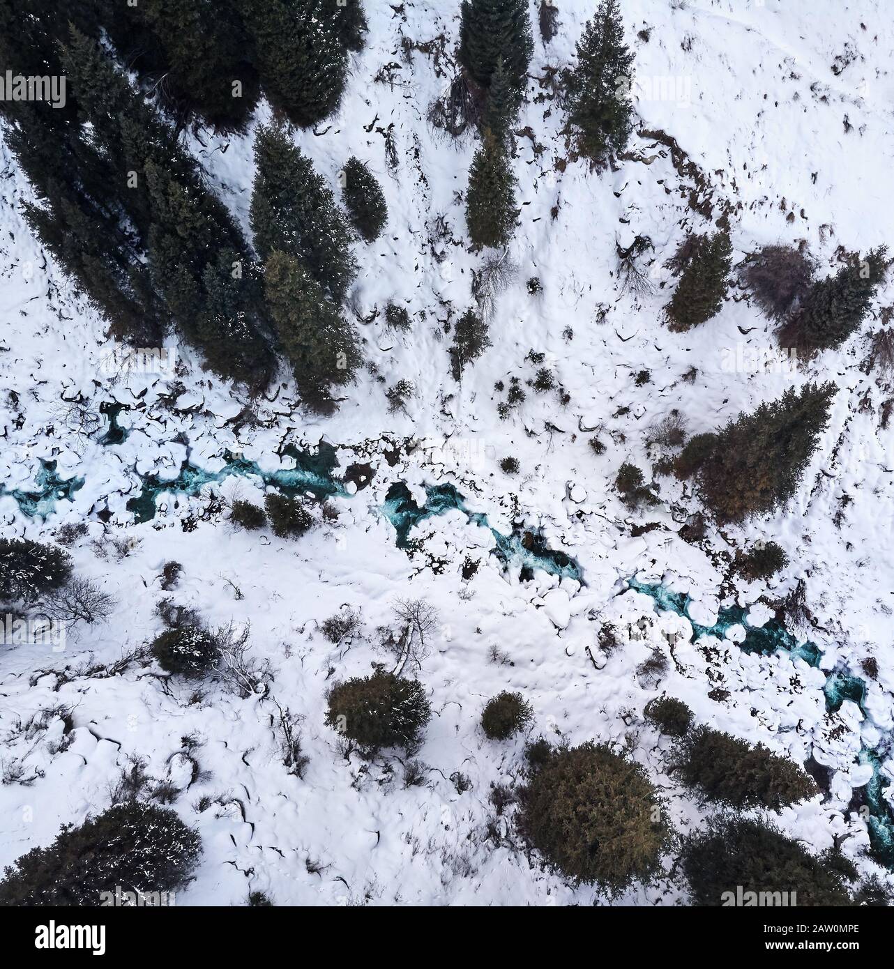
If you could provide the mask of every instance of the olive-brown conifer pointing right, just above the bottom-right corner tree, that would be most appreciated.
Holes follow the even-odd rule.
[[[778,811],[816,793],[813,779],[794,761],[710,727],[686,737],[674,767],[686,787],[737,808]]]

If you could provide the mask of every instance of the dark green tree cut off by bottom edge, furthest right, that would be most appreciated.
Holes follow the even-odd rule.
[[[714,818],[686,838],[681,860],[695,905],[722,905],[738,886],[757,893],[755,904],[761,892],[779,891],[795,892],[798,906],[850,904],[841,873],[765,821]]]

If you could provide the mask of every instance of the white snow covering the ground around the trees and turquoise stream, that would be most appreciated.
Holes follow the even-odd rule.
[[[411,332],[398,335],[381,315],[358,324],[370,371],[333,417],[304,414],[283,379],[260,401],[254,425],[239,422],[246,399],[204,373],[175,338],[176,373],[116,378],[103,362],[113,346],[102,321],[24,225],[18,203],[30,189],[0,147],[0,484],[4,492],[33,490],[42,459],[54,460],[63,477],[83,478],[73,500],[60,500],[46,520],[22,516],[4,493],[2,534],[51,539],[65,522],[89,521],[89,534],[72,549],[76,569],[117,599],[108,623],[81,627],[61,653],[0,647],[0,761],[5,772],[22,768],[20,780],[33,778],[0,785],[0,864],[108,806],[128,758],[141,757],[152,778],[180,790],[174,806],[203,838],[197,879],[178,904],[244,904],[253,890],[277,904],[589,903],[592,888],[542,871],[490,801],[492,785],[519,780],[526,737],[488,740],[481,708],[500,690],[518,690],[534,707],[530,735],[610,740],[629,750],[668,797],[681,830],[699,825],[705,809],[668,777],[667,740],[642,719],[655,695],[679,696],[698,722],[798,761],[813,755],[835,771],[831,794],[782,811],[782,828],[816,850],[849,834],[845,853],[861,870],[882,870],[862,856],[865,819],[848,802],[868,780],[858,751],[883,743],[894,727],[894,424],[880,426],[892,388],[861,366],[866,336],[892,302],[891,285],[878,293],[862,334],[795,371],[728,366],[739,346],[747,353],[773,345],[771,324],[735,287],[715,319],[668,332],[661,310],[675,281],[663,264],[688,232],[710,223],[688,204],[692,178],[675,169],[654,134],[634,136],[617,170],[567,161],[564,114],[547,78],[549,68],[570,62],[592,4],[558,5],[557,38],[544,47],[535,37],[519,122],[521,214],[507,257],[516,268],[495,302],[493,345],[462,385],[450,377],[443,328],[472,304],[472,271],[483,259],[463,244],[460,193],[474,142],[450,141],[426,120],[452,76],[459,4],[366,0],[367,48],[353,56],[341,110],[316,131],[296,134],[336,193],[337,172],[352,155],[377,174],[389,223],[377,242],[356,246],[361,271],[351,305],[368,317],[394,299],[413,321]],[[536,23],[533,4],[531,12]],[[828,273],[839,246],[866,252],[891,241],[894,22],[884,0],[625,0],[623,16],[636,52],[641,130],[666,133],[697,166],[699,200],[713,204],[715,220],[729,213],[737,262],[762,244],[805,239]],[[262,107],[258,120],[267,116]],[[242,138],[203,132],[191,147],[247,233],[251,131]],[[442,234],[438,226],[446,227]],[[638,297],[623,293],[616,260],[616,241],[627,245],[635,234],[655,246],[653,292]],[[647,254],[644,266],[652,259]],[[530,295],[533,276],[543,290]],[[544,362],[533,363],[531,352]],[[557,391],[526,387],[527,400],[501,419],[505,391],[495,383],[508,386],[518,376],[524,385],[542,365],[570,400],[562,405]],[[693,367],[694,379],[685,380]],[[643,370],[650,379],[638,386]],[[414,382],[416,395],[406,413],[392,414],[385,391],[400,378]],[[690,432],[711,430],[816,379],[839,388],[832,419],[797,496],[778,514],[722,533],[709,527],[696,547],[677,534],[698,509],[687,485],[661,479],[662,504],[643,515],[618,500],[619,466],[651,467],[649,429],[672,410],[686,416]],[[130,430],[126,440],[101,445],[101,434],[80,433],[72,399],[97,413],[104,402],[128,405],[119,418]],[[588,445],[594,433],[607,446],[601,456]],[[160,501],[159,514],[143,524],[126,510],[140,476],[176,477],[187,450],[209,472],[220,469],[225,450],[237,449],[274,470],[284,442],[312,449],[323,438],[339,446],[342,467],[369,461],[375,477],[357,494],[333,499],[335,526],[299,542],[238,532],[223,513],[204,514],[211,490],[259,500],[257,483],[244,478],[209,486],[203,497]],[[418,447],[390,464],[384,452],[408,440]],[[517,476],[499,469],[508,455],[520,462]],[[488,554],[491,533],[459,512],[424,521],[413,533],[421,548],[407,554],[381,512],[398,481],[420,495],[425,485],[453,482],[468,507],[505,532],[514,518],[540,526],[551,547],[579,562],[584,583],[542,572],[520,581],[517,569],[504,571]],[[97,514],[106,509],[104,522]],[[187,530],[188,516],[195,521]],[[647,521],[659,527],[632,537],[631,526]],[[115,539],[134,540],[120,559]],[[728,576],[728,562],[757,539],[779,542],[790,559],[771,597],[806,582],[822,669],[846,664],[859,673],[860,660],[878,661],[865,704],[871,724],[849,701],[826,713],[822,672],[783,654],[748,655],[731,640],[679,644],[657,686],[636,674],[648,642],[625,645],[607,662],[598,654],[602,623],[623,625],[654,611],[641,593],[619,596],[621,580],[636,573],[687,591],[700,604],[702,617],[693,615],[700,623],[711,620],[721,595],[756,602],[768,593],[765,584]],[[482,561],[465,580],[469,557]],[[169,560],[182,563],[183,577],[166,593],[159,583]],[[166,595],[213,625],[250,621],[253,655],[274,674],[271,696],[304,717],[310,763],[302,780],[281,764],[269,700],[242,700],[217,686],[194,696],[194,684],[166,681],[150,666],[83,674],[91,657],[109,664],[157,635],[154,607]],[[399,596],[426,599],[440,616],[417,671],[433,711],[417,755],[424,782],[409,788],[399,759],[345,759],[338,735],[323,724],[332,682],[384,661],[375,631],[394,621]],[[361,611],[364,634],[334,647],[318,623],[342,605]],[[726,695],[711,699],[718,687]],[[75,726],[61,752],[61,719],[26,729],[38,711],[59,704],[73,709]],[[189,735],[201,741],[194,756],[207,772],[192,783],[181,753]],[[894,775],[894,762],[887,772]],[[461,774],[469,782],[462,791]],[[198,803],[202,797],[208,806]],[[667,882],[617,901],[680,898]]]

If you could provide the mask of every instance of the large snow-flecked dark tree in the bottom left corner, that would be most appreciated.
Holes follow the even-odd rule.
[[[116,804],[16,860],[0,882],[0,905],[97,906],[116,887],[174,891],[189,880],[201,851],[199,835],[169,808]]]

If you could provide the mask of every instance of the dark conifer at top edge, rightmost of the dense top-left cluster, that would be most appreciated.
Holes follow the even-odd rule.
[[[339,18],[328,0],[250,0],[242,16],[272,104],[300,128],[337,109],[347,76]]]

